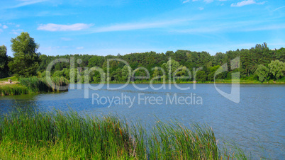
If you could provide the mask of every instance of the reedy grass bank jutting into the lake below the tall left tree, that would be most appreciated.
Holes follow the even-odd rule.
[[[13,77],[11,77],[13,78]],[[7,80],[0,79],[0,80]],[[19,84],[1,84],[0,85],[0,96],[9,96],[9,95],[23,95],[29,93],[45,93],[45,92],[54,92],[54,91],[68,91],[68,81],[62,77],[53,77],[52,86],[47,84],[46,79],[43,78],[21,78],[16,79],[15,77],[12,81],[19,81]],[[57,86],[62,86],[63,88],[60,89]]]

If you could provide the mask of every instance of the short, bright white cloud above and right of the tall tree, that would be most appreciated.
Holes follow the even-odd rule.
[[[59,25],[54,23],[48,23],[45,25],[38,26],[38,30],[47,30],[47,31],[75,31],[75,30],[84,30],[90,28],[92,24],[84,24],[84,23],[75,23],[72,25]]]

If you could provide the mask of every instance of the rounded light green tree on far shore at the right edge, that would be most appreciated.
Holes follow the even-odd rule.
[[[279,60],[272,61],[268,64],[270,73],[272,74],[274,79],[279,79],[280,76],[284,76],[285,71],[285,63]]]

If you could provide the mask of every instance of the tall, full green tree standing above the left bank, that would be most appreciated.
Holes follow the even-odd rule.
[[[13,61],[8,64],[11,72],[25,77],[36,75],[40,62],[40,54],[37,53],[39,45],[33,38],[30,38],[28,33],[24,32],[12,38],[11,42],[14,56]]]

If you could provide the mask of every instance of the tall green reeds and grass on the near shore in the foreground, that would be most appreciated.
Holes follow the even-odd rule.
[[[18,110],[1,115],[0,159],[246,159],[219,149],[210,127],[157,122],[150,130],[114,116]]]

